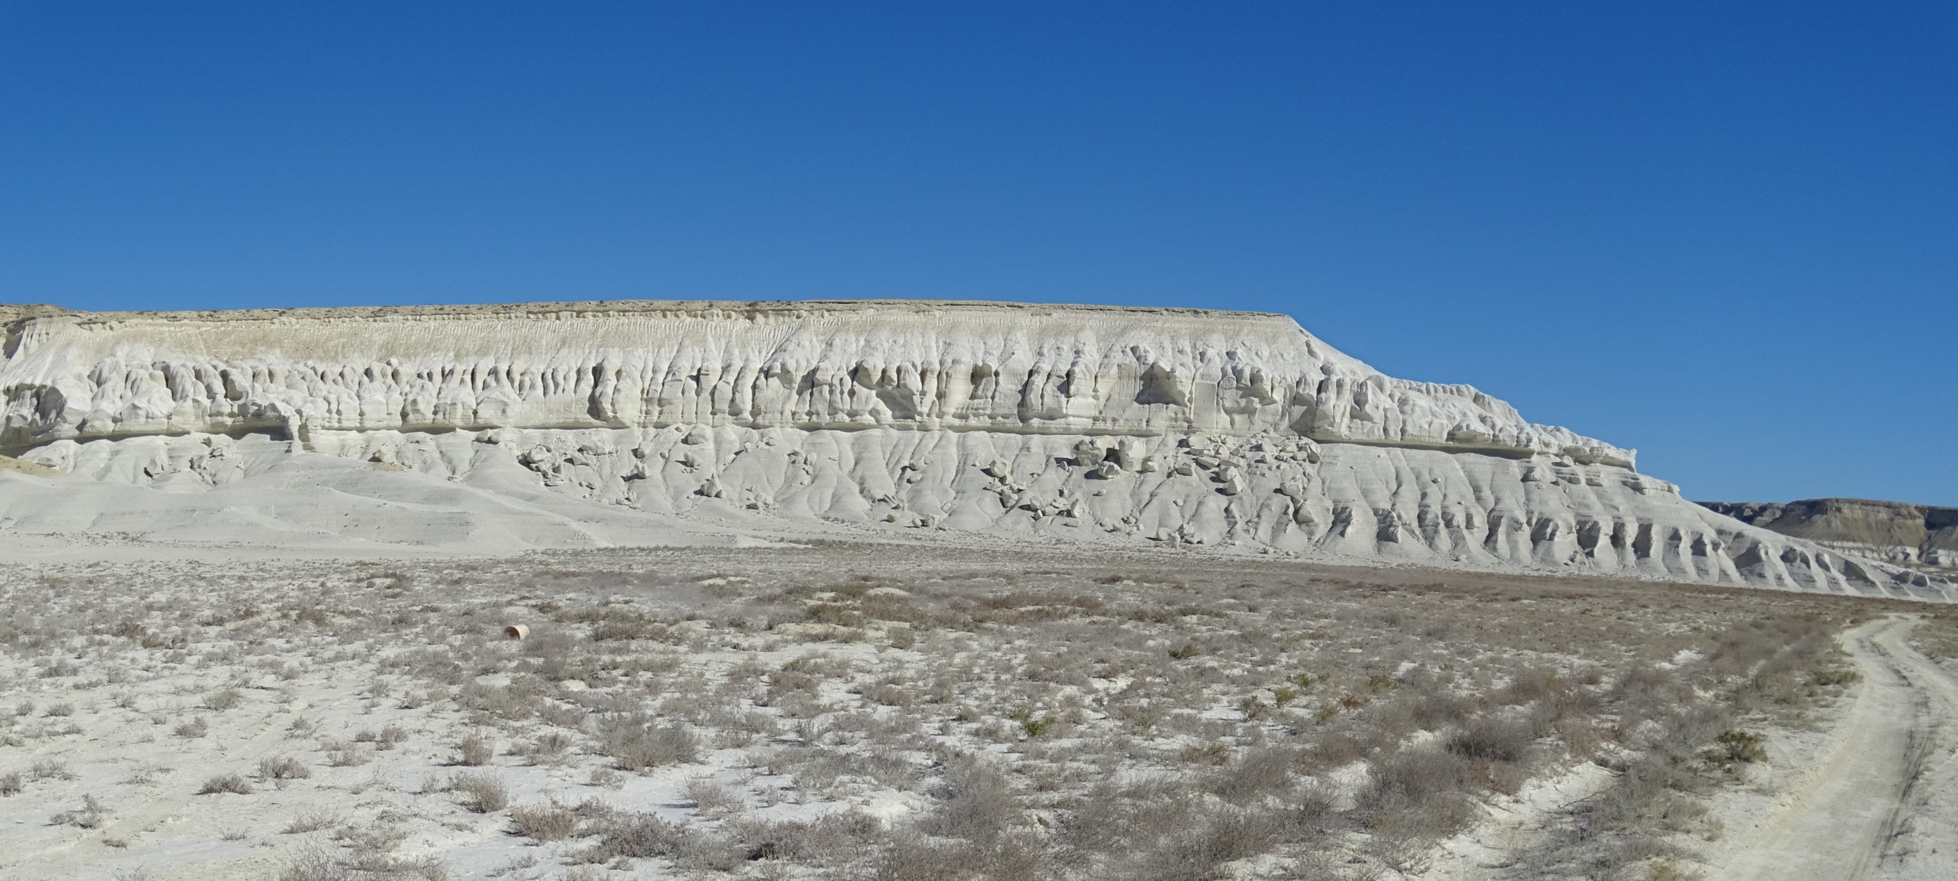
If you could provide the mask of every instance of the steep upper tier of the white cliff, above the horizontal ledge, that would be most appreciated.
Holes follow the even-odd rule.
[[[18,337],[18,339],[16,339]],[[540,303],[31,317],[0,446],[59,439],[495,427],[1284,433],[1631,452],[1404,382],[1284,315],[1012,303]]]

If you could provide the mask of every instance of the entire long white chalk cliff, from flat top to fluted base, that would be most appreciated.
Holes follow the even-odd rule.
[[[474,511],[454,529],[480,531],[548,499],[490,533],[629,544],[634,523],[715,517],[1952,595],[1688,503],[1631,450],[1468,386],[1388,378],[1284,315],[611,301],[0,321],[0,454],[176,495],[290,489],[296,468],[368,487],[337,521],[227,497],[233,521],[298,533],[435,540],[376,523]],[[0,501],[37,480],[0,472]],[[33,505],[0,509],[0,534],[129,525]]]

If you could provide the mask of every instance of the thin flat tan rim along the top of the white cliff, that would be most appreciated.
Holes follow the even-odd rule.
[[[1284,319],[1271,311],[1185,309],[1155,305],[1085,305],[1085,303],[1014,303],[993,300],[580,300],[562,303],[470,303],[470,305],[335,305],[294,309],[202,309],[202,311],[76,311],[59,305],[0,303],[0,321],[14,323],[35,317],[72,315],[84,321],[268,321],[268,319],[368,319],[368,317],[521,317],[521,315],[634,315],[634,313],[773,313],[818,315],[838,311],[963,311],[963,313],[1116,313],[1159,317],[1212,317],[1226,321]]]

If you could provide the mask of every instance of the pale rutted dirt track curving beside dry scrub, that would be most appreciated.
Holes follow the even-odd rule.
[[[1862,673],[1817,767],[1739,836],[1713,877],[1844,881],[1958,877],[1958,681],[1909,646],[1915,619],[1844,634]]]

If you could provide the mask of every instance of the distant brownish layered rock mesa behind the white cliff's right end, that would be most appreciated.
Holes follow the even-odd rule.
[[[1858,556],[1931,570],[1958,568],[1958,507],[1874,499],[1702,501],[1741,523]]]

